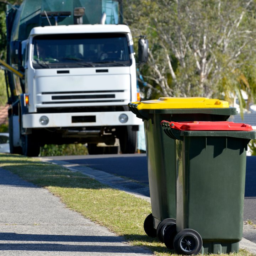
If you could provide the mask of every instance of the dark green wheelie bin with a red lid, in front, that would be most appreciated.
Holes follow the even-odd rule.
[[[163,121],[162,129],[177,144],[176,230],[166,229],[165,245],[187,255],[238,252],[246,150],[256,131],[233,122]]]

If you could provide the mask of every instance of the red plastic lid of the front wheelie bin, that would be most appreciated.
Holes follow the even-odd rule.
[[[229,121],[219,122],[170,122],[170,127],[177,130],[192,131],[192,130],[222,130],[222,131],[251,131],[250,124],[234,123]]]

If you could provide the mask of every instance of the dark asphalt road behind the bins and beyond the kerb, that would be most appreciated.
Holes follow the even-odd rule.
[[[123,176],[148,185],[146,154],[86,155],[51,157],[70,164],[85,165],[92,169]],[[146,196],[148,194],[144,193]],[[244,220],[256,224],[256,156],[247,156]]]

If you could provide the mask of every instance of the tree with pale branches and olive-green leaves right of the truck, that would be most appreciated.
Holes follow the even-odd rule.
[[[161,96],[240,94],[249,81],[245,64],[254,66],[254,0],[140,0],[136,15],[135,1],[126,2],[133,33],[147,34],[151,44],[144,79]]]

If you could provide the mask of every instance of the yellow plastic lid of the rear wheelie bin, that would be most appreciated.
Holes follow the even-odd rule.
[[[218,99],[203,97],[160,97],[158,100],[133,102],[138,110],[170,108],[228,108],[229,103]]]

